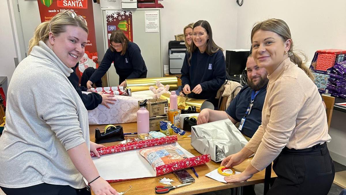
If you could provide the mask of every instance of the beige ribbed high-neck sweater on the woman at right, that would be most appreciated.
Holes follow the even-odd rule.
[[[263,170],[287,146],[306,149],[330,142],[327,116],[316,85],[286,58],[272,74],[262,110],[262,124],[246,148],[255,153],[252,166]]]

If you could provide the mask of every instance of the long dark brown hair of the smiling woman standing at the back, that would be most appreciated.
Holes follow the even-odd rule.
[[[211,31],[211,26],[209,24],[209,22],[207,20],[198,20],[196,23],[194,23],[193,28],[197,26],[201,26],[204,29],[206,29],[206,32],[209,36],[209,39],[207,40],[207,47],[206,47],[206,53],[211,56],[213,53],[216,53],[217,51],[222,50],[222,48],[220,48],[219,46],[217,46],[215,44],[215,42],[213,41],[213,33]],[[189,58],[189,65],[190,65],[190,61],[191,61],[191,57],[192,57],[192,52],[194,52],[197,49],[197,46],[193,43],[193,41],[191,42],[191,48],[190,48],[190,58]]]

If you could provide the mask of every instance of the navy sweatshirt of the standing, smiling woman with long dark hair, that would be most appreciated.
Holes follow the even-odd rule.
[[[185,55],[183,67],[181,68],[181,82],[184,87],[190,85],[190,90],[201,84],[200,94],[191,93],[189,97],[195,99],[214,99],[217,90],[226,80],[225,57],[221,50],[209,56],[206,52],[201,53],[199,49],[192,52],[189,66],[190,54]]]

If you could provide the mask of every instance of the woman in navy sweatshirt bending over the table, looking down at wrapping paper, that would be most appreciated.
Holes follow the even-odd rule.
[[[147,67],[138,45],[130,42],[124,32],[116,30],[110,35],[110,48],[104,54],[101,65],[86,83],[89,89],[106,74],[112,62],[119,75],[120,86],[125,87],[125,79],[147,77]]]

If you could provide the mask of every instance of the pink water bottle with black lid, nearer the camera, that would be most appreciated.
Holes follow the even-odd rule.
[[[137,111],[137,133],[149,133],[149,111],[146,109],[147,100],[139,104]]]

